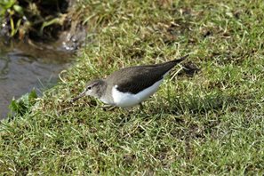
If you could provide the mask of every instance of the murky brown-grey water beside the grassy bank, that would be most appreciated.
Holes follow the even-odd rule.
[[[56,84],[71,57],[71,53],[53,50],[52,46],[42,49],[23,43],[6,44],[0,39],[0,119],[8,114],[12,98],[18,99],[33,88],[41,94]]]

